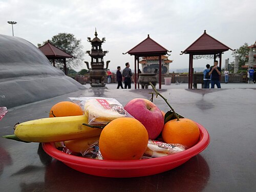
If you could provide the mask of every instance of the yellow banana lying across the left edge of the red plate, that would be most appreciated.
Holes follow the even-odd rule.
[[[14,134],[30,142],[57,142],[100,135],[101,129],[82,123],[88,124],[86,115],[36,119],[16,124]]]

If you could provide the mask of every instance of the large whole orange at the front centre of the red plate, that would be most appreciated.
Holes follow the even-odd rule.
[[[144,125],[135,118],[120,117],[104,127],[99,150],[105,160],[140,159],[148,143]]]

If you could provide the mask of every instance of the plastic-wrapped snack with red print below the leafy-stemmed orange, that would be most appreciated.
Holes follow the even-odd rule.
[[[173,155],[186,150],[182,144],[164,143],[162,141],[148,140],[146,151],[142,159],[153,157],[164,157]]]

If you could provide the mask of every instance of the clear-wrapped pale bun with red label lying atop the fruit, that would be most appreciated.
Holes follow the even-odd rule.
[[[114,98],[69,97],[88,115],[89,124],[106,124],[119,117],[133,117]]]

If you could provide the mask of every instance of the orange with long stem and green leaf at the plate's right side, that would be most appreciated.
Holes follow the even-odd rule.
[[[186,147],[197,144],[200,133],[197,124],[190,119],[180,118],[164,124],[162,137],[166,143],[179,143]]]

